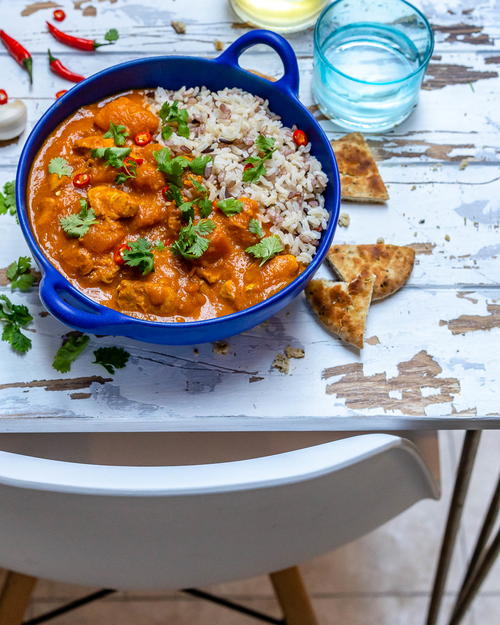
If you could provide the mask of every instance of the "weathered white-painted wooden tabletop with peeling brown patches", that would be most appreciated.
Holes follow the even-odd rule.
[[[85,55],[44,32],[54,6],[67,9],[64,29],[118,44]],[[73,10],[73,4],[76,11]],[[16,294],[34,313],[27,357],[0,344],[0,431],[387,429],[499,427],[500,402],[500,3],[423,1],[436,48],[419,107],[403,125],[370,137],[391,200],[350,205],[339,242],[411,244],[417,264],[409,284],[375,304],[362,353],[322,331],[299,298],[280,315],[212,345],[159,347],[127,339],[91,339],[69,374],[51,360],[66,329],[47,316],[36,291]],[[244,32],[226,2],[76,0],[2,4],[2,27],[34,52],[35,84],[0,50],[2,84],[28,104],[30,127],[67,87],[46,69],[46,49],[86,74],[142,55],[214,56]],[[185,35],[170,27],[186,23]],[[312,107],[311,31],[290,36],[301,70],[301,99]],[[266,48],[242,64],[278,76]],[[11,86],[10,86],[11,85]],[[339,129],[315,111],[332,138]],[[19,141],[0,144],[0,184],[12,179]],[[1,268],[26,251],[14,219],[0,221]],[[328,270],[322,270],[328,275]],[[115,376],[92,364],[92,348],[120,344],[132,354]],[[303,347],[288,374],[272,368],[287,345]]]

